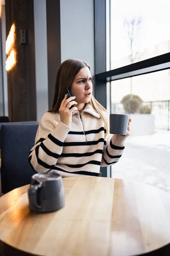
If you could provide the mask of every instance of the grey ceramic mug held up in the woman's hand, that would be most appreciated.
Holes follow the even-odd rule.
[[[110,134],[127,134],[129,115],[110,114]]]

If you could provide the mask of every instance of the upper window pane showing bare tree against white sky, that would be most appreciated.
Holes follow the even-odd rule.
[[[111,0],[111,69],[170,52],[170,0]]]

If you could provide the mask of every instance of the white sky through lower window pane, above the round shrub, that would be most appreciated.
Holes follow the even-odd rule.
[[[143,101],[170,99],[170,70],[163,70],[111,82],[112,103],[120,103],[126,94],[139,95]]]

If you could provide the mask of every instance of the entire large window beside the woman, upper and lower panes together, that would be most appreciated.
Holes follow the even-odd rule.
[[[170,69],[163,70],[160,66],[153,70],[152,60],[170,52],[170,1],[111,0],[110,8],[113,72],[111,96],[107,98],[111,113],[128,113],[133,126],[122,159],[111,166],[111,174],[170,192]],[[139,72],[136,64],[143,60],[147,72],[141,70],[135,76]],[[127,65],[132,69],[126,74]],[[119,80],[116,80],[117,68],[120,68]],[[155,72],[149,73],[151,69]],[[141,101],[136,105],[136,100]]]

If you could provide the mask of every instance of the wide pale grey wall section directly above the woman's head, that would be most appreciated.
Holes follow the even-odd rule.
[[[60,0],[61,62],[81,59],[94,76],[94,0]]]

